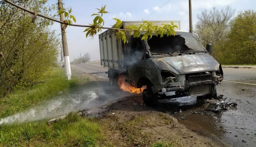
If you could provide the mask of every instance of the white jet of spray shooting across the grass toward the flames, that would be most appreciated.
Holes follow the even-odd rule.
[[[90,85],[93,87],[86,86],[74,89],[69,94],[61,94],[39,106],[2,118],[0,125],[55,118],[66,115],[71,111],[97,109],[115,99],[130,95],[109,86],[102,86],[102,84],[100,86],[97,86],[97,83]]]

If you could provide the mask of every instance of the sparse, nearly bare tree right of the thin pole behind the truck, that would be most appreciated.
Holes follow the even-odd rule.
[[[197,15],[198,22],[195,24],[194,36],[198,41],[206,46],[207,43],[213,44],[213,56],[218,58],[220,55],[220,45],[227,41],[227,34],[230,29],[230,20],[235,10],[229,6],[218,10],[204,10]]]

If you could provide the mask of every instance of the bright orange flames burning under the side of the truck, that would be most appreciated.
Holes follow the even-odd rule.
[[[141,87],[141,91],[139,88],[135,88],[135,87],[132,87],[130,84],[128,84],[127,82],[125,82],[125,76],[124,75],[119,75],[118,76],[118,85],[120,87],[120,89],[122,89],[123,91],[127,91],[127,92],[130,92],[130,93],[140,93],[142,92],[144,89],[146,89],[147,86],[143,86]]]

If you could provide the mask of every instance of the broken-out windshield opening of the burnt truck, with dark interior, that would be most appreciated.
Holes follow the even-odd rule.
[[[189,32],[176,32],[175,36],[152,36],[147,40],[150,52],[166,54],[183,51],[205,51],[201,44]]]

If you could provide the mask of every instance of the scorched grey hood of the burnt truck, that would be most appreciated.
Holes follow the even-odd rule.
[[[219,70],[220,63],[208,53],[155,58],[163,69],[176,74],[209,72]]]

